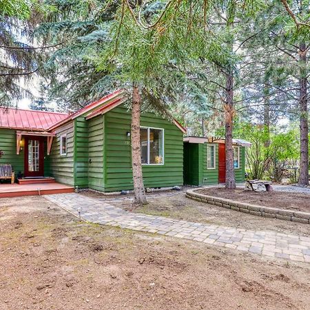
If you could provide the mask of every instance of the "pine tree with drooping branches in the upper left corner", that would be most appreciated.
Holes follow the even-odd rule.
[[[27,85],[39,70],[41,55],[30,44],[34,25],[49,9],[38,1],[0,1],[0,106],[32,98],[21,82]]]

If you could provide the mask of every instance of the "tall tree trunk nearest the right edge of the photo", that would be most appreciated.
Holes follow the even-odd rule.
[[[307,48],[305,43],[300,44],[299,52],[300,79],[299,79],[299,110],[300,110],[300,185],[309,185],[309,125],[307,101]]]

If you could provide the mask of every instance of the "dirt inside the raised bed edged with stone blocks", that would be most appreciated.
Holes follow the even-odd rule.
[[[291,192],[253,192],[244,189],[205,188],[198,192],[264,207],[310,212],[310,195]]]

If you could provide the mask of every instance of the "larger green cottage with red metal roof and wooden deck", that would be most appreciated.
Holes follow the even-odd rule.
[[[18,182],[52,177],[78,188],[133,189],[130,124],[122,90],[73,114],[0,111],[0,165],[10,164]],[[145,187],[183,185],[183,134],[176,121],[141,114]]]

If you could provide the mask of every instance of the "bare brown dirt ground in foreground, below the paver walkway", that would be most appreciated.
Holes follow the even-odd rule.
[[[18,203],[17,203],[18,201]],[[309,309],[309,264],[79,223],[0,199],[0,309]]]

